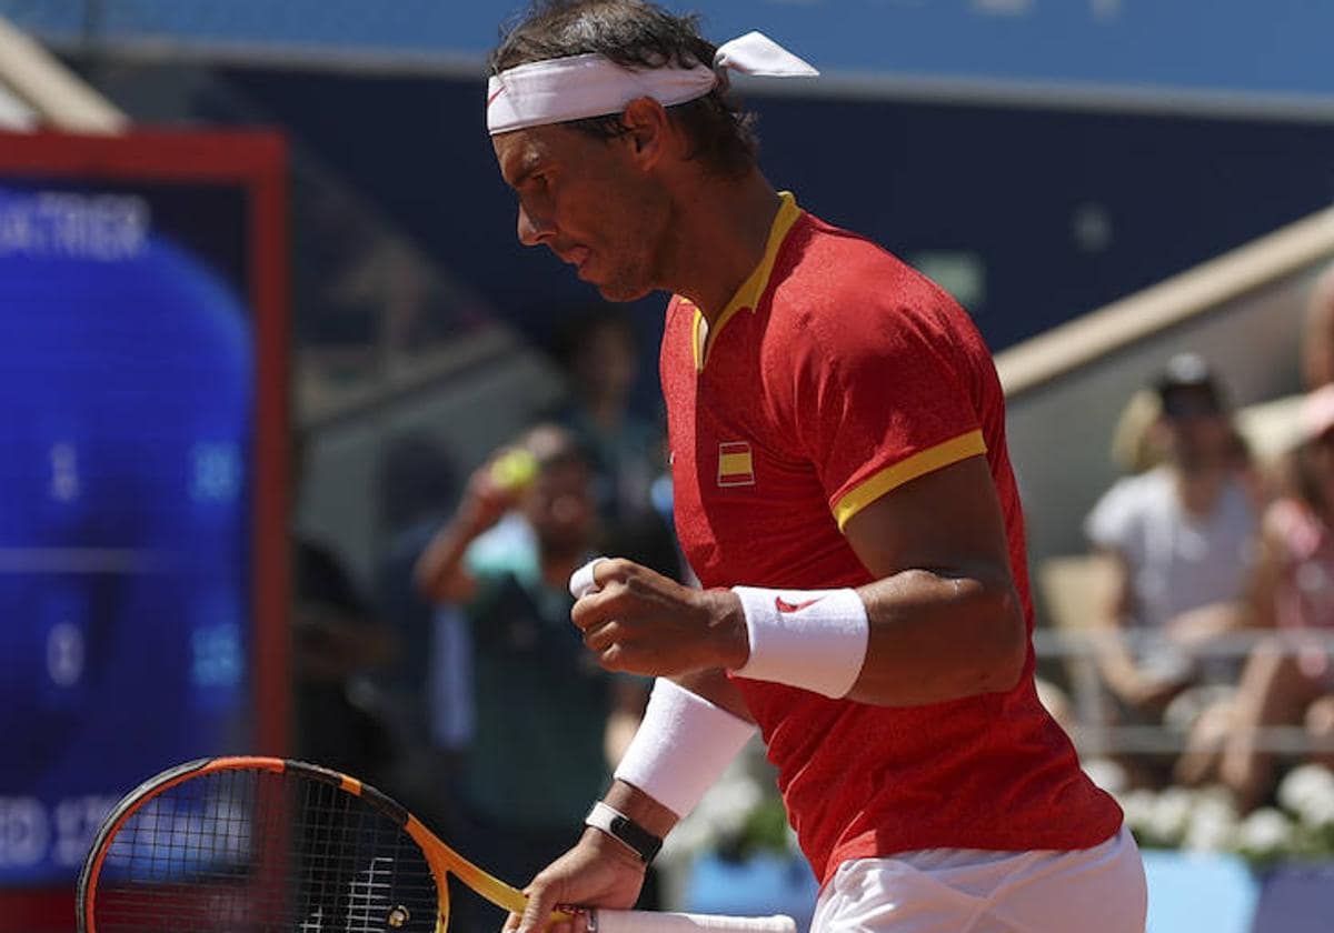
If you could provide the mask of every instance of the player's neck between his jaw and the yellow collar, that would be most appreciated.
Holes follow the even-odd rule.
[[[759,171],[740,181],[702,177],[678,201],[679,236],[664,257],[668,288],[714,324],[764,259],[779,205]]]

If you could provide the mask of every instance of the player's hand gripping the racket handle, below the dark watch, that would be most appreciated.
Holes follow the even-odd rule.
[[[528,909],[523,917],[510,914],[504,929],[518,933],[584,933],[583,914],[575,914],[571,922],[544,924],[558,908],[632,908],[644,885],[644,862],[628,848],[600,829],[584,829],[575,848],[542,869],[524,888]]]

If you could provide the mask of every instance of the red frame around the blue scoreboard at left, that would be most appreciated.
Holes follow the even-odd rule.
[[[251,561],[256,752],[289,748],[288,179],[276,132],[133,131],[119,136],[0,132],[0,177],[96,184],[217,184],[244,192],[256,385]],[[261,710],[261,714],[259,712]],[[147,777],[147,774],[144,776]],[[75,929],[73,885],[0,888],[0,926]]]

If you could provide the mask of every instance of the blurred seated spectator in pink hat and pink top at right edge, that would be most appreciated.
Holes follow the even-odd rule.
[[[1274,756],[1254,729],[1305,725],[1311,738],[1334,740],[1334,658],[1321,638],[1334,636],[1334,385],[1306,396],[1299,421],[1290,489],[1265,513],[1255,574],[1257,624],[1278,634],[1246,662],[1219,766],[1242,809],[1274,785]],[[1315,757],[1334,766],[1334,754]]]

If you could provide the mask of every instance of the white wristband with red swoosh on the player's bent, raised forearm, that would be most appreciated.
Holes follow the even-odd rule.
[[[843,697],[866,661],[871,629],[854,589],[734,586],[746,613],[750,658],[738,677]]]

